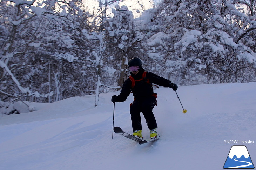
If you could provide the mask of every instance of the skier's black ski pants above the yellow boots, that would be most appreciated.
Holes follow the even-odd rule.
[[[149,96],[143,99],[135,99],[130,105],[130,115],[132,119],[133,131],[142,130],[141,126],[141,116],[140,113],[144,115],[148,129],[157,128],[156,119],[152,112],[154,106],[156,105],[156,97]]]

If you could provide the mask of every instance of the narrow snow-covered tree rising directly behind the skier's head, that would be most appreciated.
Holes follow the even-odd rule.
[[[133,13],[127,6],[120,7],[119,5],[112,9],[112,13],[114,16],[107,20],[107,48],[108,55],[114,57],[114,68],[118,70],[116,72],[119,77],[118,85],[122,86],[129,73],[127,71],[128,60],[140,57],[141,52],[137,45],[139,38],[134,27]]]

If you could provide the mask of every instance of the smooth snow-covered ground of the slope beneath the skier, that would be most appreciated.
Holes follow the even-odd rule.
[[[0,164],[3,170],[216,170],[223,169],[231,143],[246,145],[256,159],[256,82],[205,84],[156,89],[155,114],[161,138],[139,145],[114,134],[112,95],[71,97],[55,103],[28,103],[33,112],[0,118]],[[115,104],[114,126],[131,133],[127,101]],[[17,107],[22,107],[20,104]],[[24,107],[24,106],[23,106]],[[25,109],[23,109],[25,110]],[[142,135],[149,130],[142,116]],[[237,144],[236,144],[237,145]],[[134,168],[134,164],[136,168]],[[130,166],[129,166],[130,165]],[[139,168],[137,168],[139,167]]]

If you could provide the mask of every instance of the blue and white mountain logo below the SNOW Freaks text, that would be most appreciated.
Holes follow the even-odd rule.
[[[231,147],[227,160],[223,168],[250,168],[253,169],[254,165],[248,153],[246,146],[234,145]]]

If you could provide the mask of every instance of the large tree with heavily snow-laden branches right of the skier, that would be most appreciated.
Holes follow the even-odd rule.
[[[150,23],[158,27],[147,40],[150,56],[162,59],[168,76],[180,84],[255,81],[255,53],[237,42],[255,21],[236,9],[237,2],[162,1]]]

